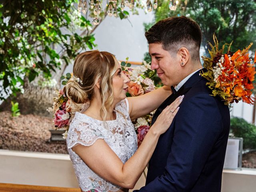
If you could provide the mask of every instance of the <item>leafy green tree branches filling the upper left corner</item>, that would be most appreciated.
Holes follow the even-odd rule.
[[[6,94],[21,91],[24,78],[50,78],[62,61],[87,48],[94,36],[80,36],[76,29],[89,29],[89,20],[77,12],[77,0],[4,0],[0,4],[0,89]],[[56,49],[61,50],[56,52]],[[3,92],[0,93],[3,99]]]

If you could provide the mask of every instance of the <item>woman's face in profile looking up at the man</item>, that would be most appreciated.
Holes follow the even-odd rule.
[[[118,62],[116,62],[116,68],[117,70],[112,78],[112,85],[114,90],[114,101],[118,103],[126,98],[130,79],[122,72]]]

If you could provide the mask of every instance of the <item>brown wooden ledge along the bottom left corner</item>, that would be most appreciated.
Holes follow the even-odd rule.
[[[81,192],[80,188],[0,183],[0,192]]]

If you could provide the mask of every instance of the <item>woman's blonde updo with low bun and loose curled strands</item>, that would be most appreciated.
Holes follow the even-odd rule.
[[[76,104],[84,104],[92,100],[94,87],[99,81],[102,106],[100,114],[106,120],[107,110],[114,101],[112,78],[117,70],[115,56],[109,52],[98,50],[87,51],[76,57],[73,66],[75,78],[70,78],[64,86],[64,94]]]

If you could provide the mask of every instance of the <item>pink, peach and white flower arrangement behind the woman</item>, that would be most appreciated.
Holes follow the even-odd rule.
[[[152,80],[152,78],[156,76],[156,72],[150,69],[150,64],[146,63],[146,61],[143,61],[143,64],[140,66],[130,68],[131,64],[128,63],[128,58],[126,58],[126,62],[121,62],[121,67],[124,74],[131,80],[128,84],[127,97],[139,96],[156,89],[154,81]],[[62,76],[62,84],[65,85],[71,77],[72,74],[70,73],[67,73],[66,76]],[[63,90],[56,90],[56,94],[57,96],[54,97],[53,106],[52,108],[48,108],[48,112],[54,113],[54,127],[56,129],[66,130],[63,134],[63,138],[65,139],[69,124],[72,121],[75,112],[81,111],[83,106],[88,104],[80,104],[79,106],[74,104],[65,96]],[[138,146],[140,146],[146,133],[150,129],[153,114],[154,112],[151,112],[133,122],[138,136]]]

